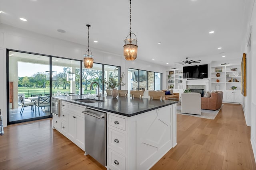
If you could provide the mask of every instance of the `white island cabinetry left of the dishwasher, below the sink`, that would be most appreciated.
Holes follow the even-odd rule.
[[[61,101],[60,117],[53,115],[53,128],[84,150],[84,111],[85,107]]]

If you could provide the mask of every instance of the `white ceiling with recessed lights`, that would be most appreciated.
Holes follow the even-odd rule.
[[[169,66],[186,57],[202,60],[202,64],[241,58],[253,3],[254,0],[132,0],[137,59]],[[130,29],[129,5],[129,0],[0,0],[0,21],[86,46],[86,24],[90,24],[90,47],[122,55],[123,40]],[[212,30],[215,33],[209,34]]]

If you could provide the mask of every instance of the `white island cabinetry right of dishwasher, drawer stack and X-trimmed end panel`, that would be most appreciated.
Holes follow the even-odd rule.
[[[176,104],[126,117],[107,113],[107,168],[150,169],[176,145]]]

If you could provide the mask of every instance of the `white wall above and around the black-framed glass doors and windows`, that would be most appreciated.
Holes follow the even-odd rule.
[[[122,45],[120,45],[120,51],[122,51],[122,48]],[[86,52],[87,46],[48,37],[46,35],[26,31],[24,29],[11,27],[9,25],[0,24],[0,59],[2,59],[2,62],[0,62],[0,78],[2,80],[2,83],[0,84],[0,109],[2,109],[4,127],[7,125],[6,49],[83,60],[83,54]],[[140,70],[160,72],[163,73],[163,77],[166,77],[166,69],[163,66],[148,63],[146,61],[140,61],[140,56],[138,56],[135,61],[126,61],[122,55],[107,53],[93,49],[92,47],[90,47],[90,50],[94,55],[93,58],[95,63],[121,66],[121,72],[125,72],[125,75],[128,75],[129,67]],[[142,49],[138,48],[138,50]],[[121,88],[127,89],[128,80],[126,77],[124,80],[126,86],[122,86]],[[166,80],[164,78],[163,80],[163,84],[165,86]]]

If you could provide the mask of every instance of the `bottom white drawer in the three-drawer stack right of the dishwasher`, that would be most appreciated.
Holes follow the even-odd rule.
[[[117,152],[109,149],[108,153],[108,164],[115,169],[125,170],[125,157],[118,154]]]

